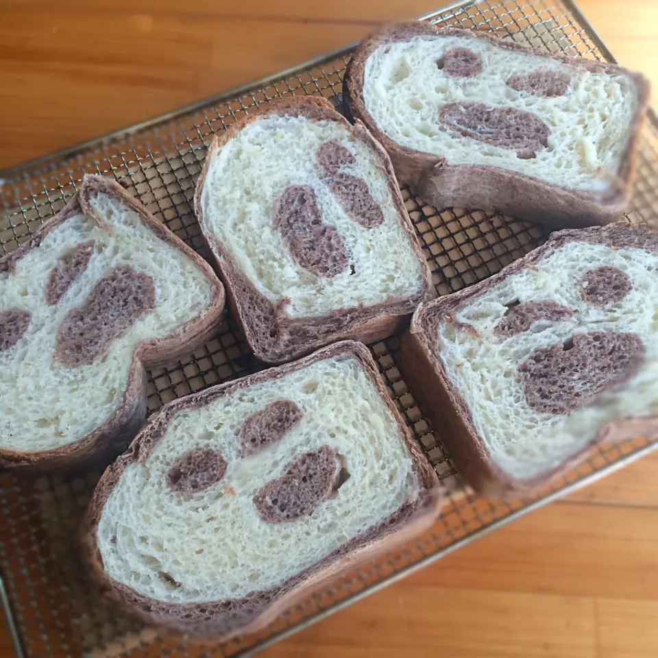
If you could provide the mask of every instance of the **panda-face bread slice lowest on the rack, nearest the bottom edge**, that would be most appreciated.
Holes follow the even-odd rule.
[[[227,639],[428,527],[440,491],[345,341],[164,406],[103,474],[83,544],[145,622]]]

